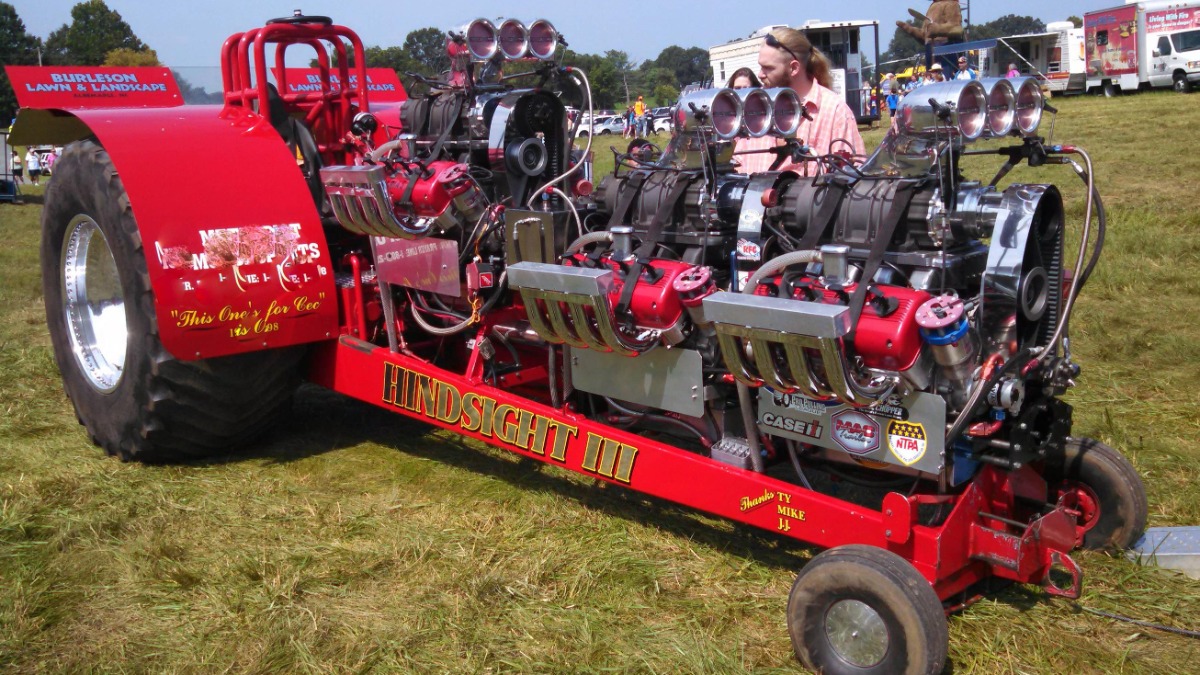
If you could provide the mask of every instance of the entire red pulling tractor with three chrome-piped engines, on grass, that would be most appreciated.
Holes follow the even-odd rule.
[[[1072,550],[1135,540],[1138,474],[1061,399],[1104,210],[1034,82],[922,88],[865,162],[814,155],[791,90],[697,91],[594,181],[560,44],[476,20],[428,95],[372,106],[355,34],[298,16],[226,41],[223,106],[23,109],[14,137],[73,142],[42,269],[91,440],[226,452],[306,378],[828,549],[787,603],[827,673],[937,673],[983,583],[1076,597]],[[319,88],[286,86],[294,46]],[[738,173],[763,135],[816,177]],[[983,154],[1002,168],[968,180]],[[1021,162],[1087,186],[1073,269],[1058,190],[997,185]]]

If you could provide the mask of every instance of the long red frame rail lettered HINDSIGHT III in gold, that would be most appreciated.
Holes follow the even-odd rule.
[[[361,263],[360,263],[361,264]],[[361,287],[359,287],[361,288]],[[1068,555],[1082,538],[1076,512],[1063,497],[1031,520],[1022,500],[1044,501],[1045,480],[1031,467],[984,467],[958,495],[889,492],[880,510],[830,497],[766,474],[742,471],[695,453],[588,419],[569,407],[517,395],[547,390],[546,365],[527,366],[484,381],[479,344],[463,372],[395,353],[354,338],[358,319],[378,313],[361,292],[342,307],[341,339],[316,347],[308,378],[348,396],[470,436],[497,448],[623,485],[640,492],[761,527],[821,548],[866,544],[910,561],[943,602],[989,577],[1042,584],[1051,595],[1078,597],[1082,575]],[[502,316],[497,318],[503,319]],[[485,318],[479,336],[494,323]],[[631,365],[634,362],[631,362]],[[940,507],[949,515],[922,525],[918,509]],[[1069,574],[1055,586],[1050,571]]]

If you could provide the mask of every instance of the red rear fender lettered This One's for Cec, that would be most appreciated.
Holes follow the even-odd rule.
[[[172,354],[190,360],[336,338],[320,217],[296,159],[262,118],[220,106],[24,108],[11,142],[86,136],[125,184]]]

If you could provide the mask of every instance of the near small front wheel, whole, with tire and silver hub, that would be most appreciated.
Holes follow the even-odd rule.
[[[902,557],[874,546],[829,549],[787,598],[796,657],[826,674],[935,674],[949,629],[941,601]]]

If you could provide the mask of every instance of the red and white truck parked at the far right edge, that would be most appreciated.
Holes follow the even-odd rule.
[[[1112,96],[1200,84],[1200,1],[1127,2],[1084,14],[1087,89]]]

